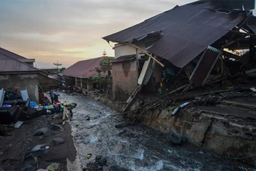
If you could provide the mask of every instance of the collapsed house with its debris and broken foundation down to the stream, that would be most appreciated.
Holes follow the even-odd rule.
[[[116,43],[113,99],[124,102],[121,111],[255,165],[254,7],[255,1],[196,1],[103,37]],[[138,95],[145,101],[154,93],[159,99],[135,107]]]

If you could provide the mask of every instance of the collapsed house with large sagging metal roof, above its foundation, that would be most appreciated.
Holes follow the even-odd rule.
[[[187,75],[180,89],[187,91],[224,80],[231,72],[255,69],[256,18],[249,10],[227,7],[227,2],[196,1],[103,37],[116,43],[113,97],[127,99],[124,111],[140,91],[178,88],[170,85],[180,79],[180,72]],[[230,50],[248,53],[235,56]],[[238,60],[241,63],[233,71],[229,64]]]

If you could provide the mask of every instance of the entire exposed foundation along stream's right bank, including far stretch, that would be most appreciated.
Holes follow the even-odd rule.
[[[124,104],[105,96],[89,94],[102,104],[122,111]],[[139,101],[132,106],[135,109]],[[162,132],[172,130],[187,137],[192,144],[214,151],[227,158],[248,158],[256,153],[255,106],[224,101],[217,106],[187,107],[172,115],[176,108],[158,106],[154,110],[144,107],[141,121]],[[132,110],[131,109],[131,110]],[[148,111],[147,111],[148,110]],[[239,159],[256,165],[255,158]]]

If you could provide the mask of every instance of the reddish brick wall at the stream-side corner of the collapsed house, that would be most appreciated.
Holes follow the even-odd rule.
[[[136,61],[112,64],[113,99],[127,100],[138,85],[138,65]]]

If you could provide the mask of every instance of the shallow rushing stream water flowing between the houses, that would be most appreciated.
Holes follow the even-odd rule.
[[[143,124],[116,129],[123,121],[108,107],[83,95],[60,94],[61,102],[75,102],[71,121],[78,155],[83,167],[95,156],[106,157],[108,170],[119,165],[132,171],[237,170],[235,164],[193,145],[173,146],[167,136]],[[89,115],[90,120],[86,120]],[[92,154],[91,159],[86,155]]]

